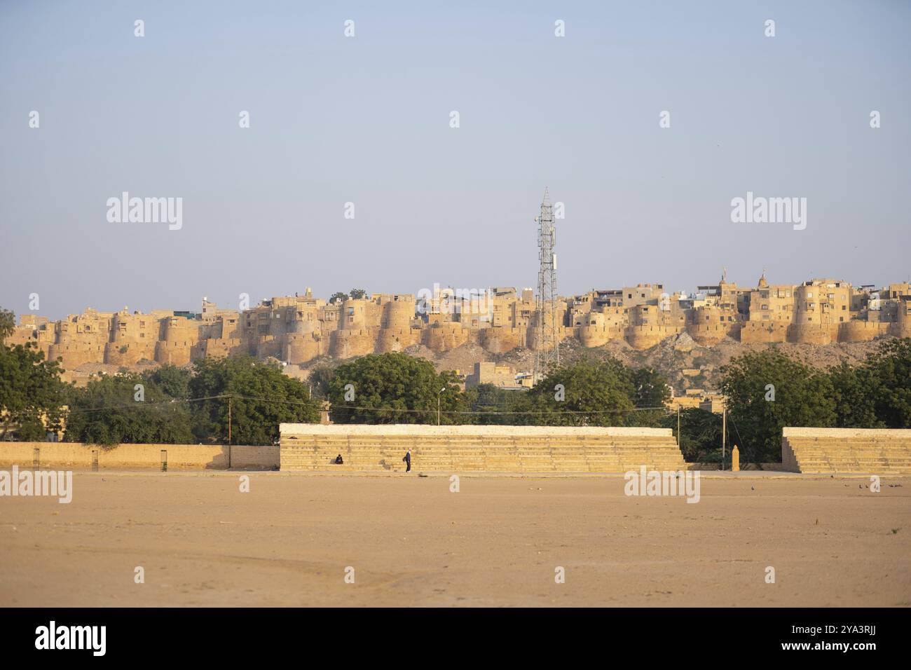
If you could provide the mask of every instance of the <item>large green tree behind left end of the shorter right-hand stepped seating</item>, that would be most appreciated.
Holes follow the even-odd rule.
[[[743,438],[737,443],[744,462],[781,459],[785,426],[835,425],[831,378],[777,349],[732,358],[720,372],[728,416]]]

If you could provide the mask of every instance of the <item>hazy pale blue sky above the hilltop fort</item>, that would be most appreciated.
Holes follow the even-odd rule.
[[[0,101],[17,313],[534,285],[546,185],[561,294],[911,271],[905,0],[6,1]],[[107,222],[121,191],[183,227]],[[806,229],[732,223],[747,191]]]

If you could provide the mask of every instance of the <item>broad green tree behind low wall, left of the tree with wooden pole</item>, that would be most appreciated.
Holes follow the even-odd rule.
[[[149,376],[128,373],[91,379],[74,388],[67,442],[88,444],[189,444],[189,408]]]

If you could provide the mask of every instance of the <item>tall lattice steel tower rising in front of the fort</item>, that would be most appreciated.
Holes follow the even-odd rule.
[[[537,260],[540,269],[537,271],[537,348],[535,349],[534,381],[548,375],[548,372],[560,365],[560,345],[558,339],[557,316],[557,229],[554,227],[554,206],[550,204],[548,190],[544,190],[541,202],[541,213],[535,218],[537,222]]]

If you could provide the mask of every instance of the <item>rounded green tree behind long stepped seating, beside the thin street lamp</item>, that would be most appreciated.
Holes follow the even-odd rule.
[[[456,384],[454,373],[437,374],[433,364],[422,358],[400,353],[363,356],[335,368],[329,385],[333,421],[435,424],[439,397],[440,422],[460,423],[462,417],[450,414],[466,408]],[[346,398],[352,394],[353,399]]]

